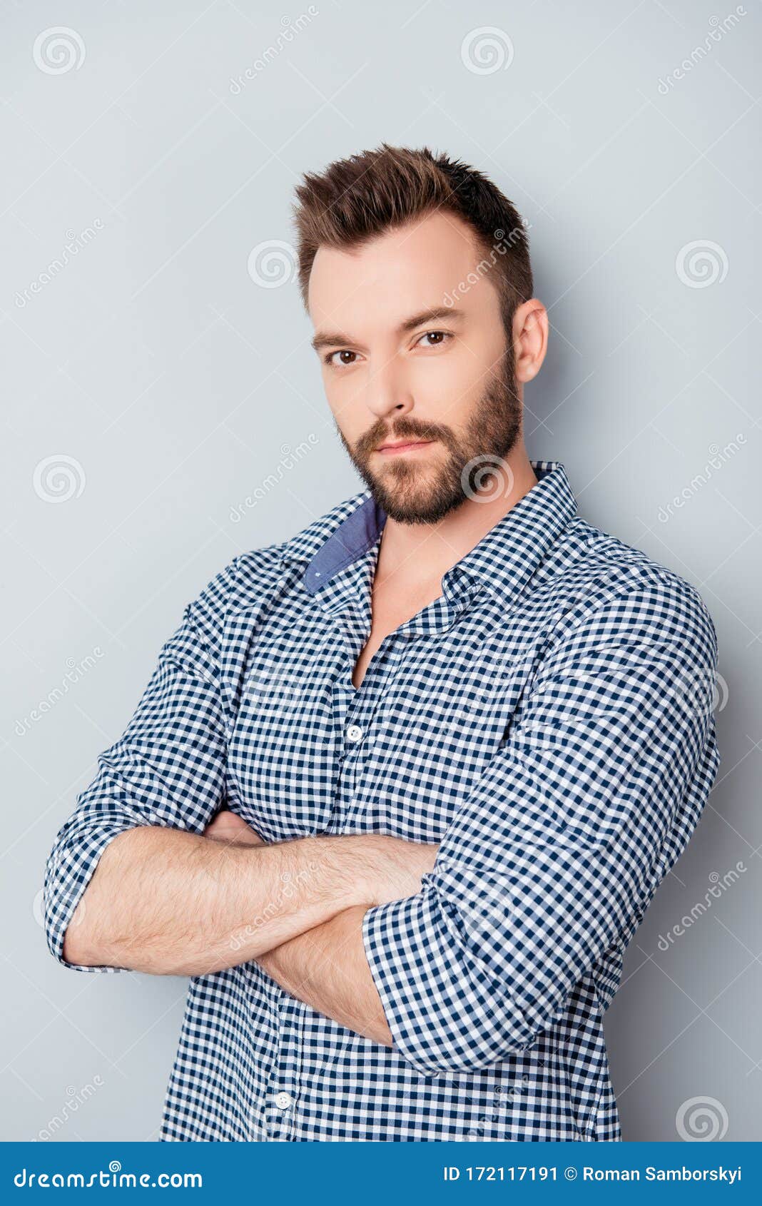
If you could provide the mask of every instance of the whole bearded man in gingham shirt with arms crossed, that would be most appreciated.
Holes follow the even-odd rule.
[[[528,459],[547,315],[496,186],[382,144],[298,200],[367,488],[186,608],[51,950],[190,976],[164,1141],[620,1140],[603,1014],[716,773],[711,620]]]

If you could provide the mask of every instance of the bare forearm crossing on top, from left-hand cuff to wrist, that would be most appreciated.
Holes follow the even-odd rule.
[[[104,850],[66,931],[71,962],[201,976],[363,900],[362,836],[271,845],[137,826]]]

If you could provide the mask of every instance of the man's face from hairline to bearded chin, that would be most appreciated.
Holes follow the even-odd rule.
[[[328,404],[374,498],[401,523],[435,523],[473,497],[521,432],[497,269],[473,275],[482,258],[469,227],[442,212],[315,257],[309,309]],[[405,439],[427,443],[382,447]]]

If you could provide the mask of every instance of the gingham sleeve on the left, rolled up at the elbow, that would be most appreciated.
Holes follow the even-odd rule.
[[[227,738],[213,634],[234,567],[186,607],[129,725],[98,756],[95,778],[55,837],[45,867],[45,932],[64,967],[124,970],[72,964],[63,955],[66,929],[109,843],[137,825],[203,832],[223,802]]]

